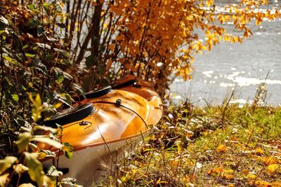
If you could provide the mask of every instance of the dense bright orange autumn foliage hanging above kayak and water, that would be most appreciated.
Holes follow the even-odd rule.
[[[247,28],[250,20],[256,19],[259,25],[263,18],[273,20],[280,18],[276,10],[266,13],[254,11],[266,1],[240,1],[223,8],[215,14],[214,1],[183,1],[183,0],[134,0],[114,1],[110,4],[110,13],[118,18],[114,29],[115,39],[108,43],[107,49],[116,53],[119,49],[119,61],[126,65],[125,71],[138,76],[164,79],[158,81],[158,86],[174,74],[184,80],[190,78],[190,69],[195,53],[211,50],[222,39],[232,43],[242,43],[243,38],[252,35]],[[216,20],[222,24],[233,22],[235,27],[243,30],[242,36],[232,36],[223,26],[216,25]],[[109,29],[107,24],[103,28]],[[202,29],[206,39],[199,39],[195,29]],[[121,57],[125,57],[124,62]],[[162,62],[162,65],[159,65]],[[162,85],[163,86],[163,85]],[[160,89],[161,90],[161,89]]]

